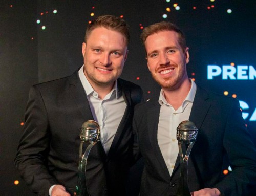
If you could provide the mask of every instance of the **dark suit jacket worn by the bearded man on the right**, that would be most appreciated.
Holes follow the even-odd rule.
[[[170,176],[157,142],[159,112],[158,100],[135,107],[133,128],[145,161],[141,196],[176,195],[179,185],[179,159]],[[199,129],[188,160],[190,191],[215,187],[222,196],[254,195],[248,188],[256,185],[256,150],[238,100],[197,86],[189,120]],[[137,156],[138,146],[135,146]],[[224,156],[233,171],[222,180]]]

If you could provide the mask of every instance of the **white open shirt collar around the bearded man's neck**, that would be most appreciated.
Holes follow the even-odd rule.
[[[184,101],[183,101],[183,103],[182,103],[182,106],[183,106],[184,103],[187,102],[187,101],[193,103],[194,98],[195,98],[195,95],[196,95],[197,85],[196,85],[196,83],[195,83],[193,80],[191,80],[190,78],[189,78],[189,80],[190,80],[190,82],[191,82],[191,88],[190,88],[190,90],[189,90],[189,92],[188,92],[188,94],[187,94],[187,97],[184,99]],[[166,101],[166,99],[165,99],[165,96],[164,96],[164,93],[163,93],[163,89],[161,89],[161,91],[160,91],[160,96],[159,96],[158,102],[159,102],[160,105],[164,105],[164,104],[165,104],[165,105],[170,105],[170,104]]]

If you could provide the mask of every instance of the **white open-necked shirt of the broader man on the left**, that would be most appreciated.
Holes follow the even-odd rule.
[[[79,78],[86,91],[93,118],[100,126],[100,141],[105,153],[108,154],[117,128],[124,115],[126,103],[122,91],[117,88],[117,81],[115,81],[111,92],[104,99],[100,99],[98,93],[94,91],[92,85],[84,75],[83,67],[78,72]]]

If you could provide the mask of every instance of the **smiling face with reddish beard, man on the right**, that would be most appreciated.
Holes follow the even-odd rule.
[[[148,69],[162,88],[169,91],[178,89],[188,78],[188,48],[183,51],[178,41],[179,35],[174,31],[160,31],[145,40]]]

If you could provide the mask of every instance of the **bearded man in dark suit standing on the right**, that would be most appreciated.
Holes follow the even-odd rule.
[[[159,99],[135,107],[133,128],[138,143],[134,153],[145,161],[140,195],[176,195],[180,173],[176,128],[184,120],[199,129],[188,160],[192,195],[255,195],[256,149],[239,101],[208,92],[188,78],[188,48],[174,24],[151,25],[144,28],[141,38],[148,69],[162,89]],[[221,178],[224,157],[232,172]]]

